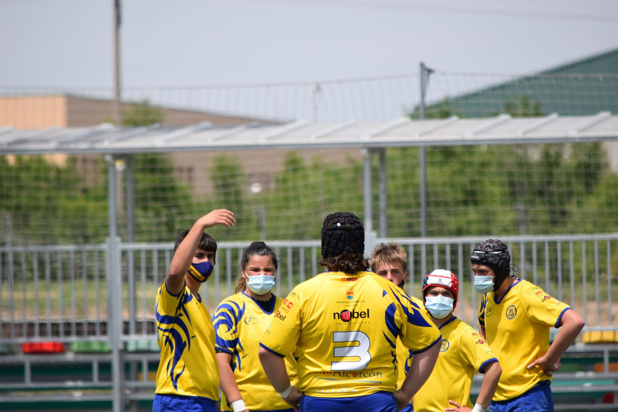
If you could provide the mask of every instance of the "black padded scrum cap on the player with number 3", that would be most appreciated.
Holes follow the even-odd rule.
[[[339,256],[346,250],[365,253],[363,222],[350,212],[331,213],[322,226],[322,256]]]

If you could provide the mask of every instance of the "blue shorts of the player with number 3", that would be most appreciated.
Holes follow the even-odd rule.
[[[364,397],[318,398],[300,397],[300,412],[397,412],[392,392],[376,392]]]

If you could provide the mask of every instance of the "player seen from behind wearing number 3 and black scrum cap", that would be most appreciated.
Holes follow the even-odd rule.
[[[289,305],[260,342],[266,376],[294,408],[300,400],[308,412],[395,412],[425,383],[438,357],[438,328],[399,287],[366,271],[364,240],[363,223],[353,213],[329,214],[319,262],[327,272],[290,292]],[[396,392],[397,337],[417,356]],[[295,346],[298,389],[283,359]]]

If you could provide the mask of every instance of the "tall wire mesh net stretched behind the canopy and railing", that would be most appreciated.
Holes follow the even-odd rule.
[[[426,117],[616,112],[618,75],[430,75]],[[392,120],[418,117],[418,76],[124,92],[122,122],[142,127]],[[110,90],[0,91],[0,127],[112,121]],[[42,131],[44,132],[44,130]],[[430,147],[430,236],[612,232],[618,227],[616,143]],[[375,196],[378,159],[374,156]],[[116,160],[119,233],[127,238],[126,159]],[[169,242],[213,208],[234,211],[226,240],[318,238],[328,212],[363,216],[362,156],[349,150],[135,154],[135,239]],[[420,235],[418,148],[386,149],[387,234]],[[0,242],[100,243],[108,236],[103,156],[0,158]],[[374,221],[379,221],[375,210]],[[376,227],[376,225],[375,225]]]

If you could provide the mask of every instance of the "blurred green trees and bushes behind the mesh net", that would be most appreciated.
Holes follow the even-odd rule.
[[[527,96],[514,102],[505,106],[514,117],[543,114],[540,104]],[[448,101],[434,109],[428,117],[453,114]],[[148,102],[125,111],[126,124],[162,121],[163,112]],[[426,153],[430,236],[618,229],[618,175],[609,170],[600,143],[431,147]],[[266,238],[271,240],[319,238],[321,220],[328,212],[347,209],[363,216],[358,157],[342,155],[338,161],[325,161],[290,151],[265,188],[252,194],[248,187],[254,178],[243,168],[246,159],[222,154],[205,163],[213,190],[199,196],[190,183],[175,177],[171,156],[136,154],[134,159],[138,242],[169,242],[213,208],[235,213],[234,228],[210,230],[224,240],[260,238],[258,213],[262,212]],[[418,149],[387,149],[386,159],[389,236],[416,237],[420,232]],[[101,157],[93,164],[95,172],[89,175],[74,157],[64,163],[43,156],[0,158],[0,242],[103,242],[108,233],[106,162]],[[377,156],[373,173],[377,205]],[[119,219],[124,236],[122,208]]]

